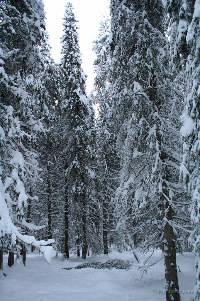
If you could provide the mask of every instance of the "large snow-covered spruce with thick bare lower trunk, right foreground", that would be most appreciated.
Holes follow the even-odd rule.
[[[111,1],[113,107],[122,149],[117,197],[124,208],[118,226],[130,214],[143,250],[164,242],[166,299],[179,301],[175,235],[184,227],[174,212],[184,193],[178,144],[183,102],[172,85],[164,18],[159,0]]]

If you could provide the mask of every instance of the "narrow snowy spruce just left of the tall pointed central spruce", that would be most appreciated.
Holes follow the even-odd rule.
[[[58,210],[56,187],[59,181],[55,154],[59,145],[58,129],[61,122],[62,71],[61,67],[56,65],[50,57],[50,45],[46,31],[44,31],[41,43],[41,54],[44,57],[44,65],[40,74],[41,87],[38,95],[40,111],[38,114],[39,118],[43,118],[46,131],[38,135],[37,151],[43,181],[37,183],[37,189],[39,188],[40,191],[38,191],[40,205],[38,204],[37,207],[41,208],[41,204],[43,204],[42,213],[47,222],[45,237],[52,238],[52,223],[55,226],[55,212]],[[41,203],[41,201],[44,203]],[[55,215],[54,218],[52,214]]]

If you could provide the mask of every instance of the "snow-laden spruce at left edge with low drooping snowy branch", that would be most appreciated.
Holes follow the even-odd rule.
[[[38,178],[32,145],[43,131],[38,111],[38,69],[41,28],[45,26],[40,1],[2,1],[0,4],[0,200],[1,252],[18,250],[17,241],[36,247],[53,242],[37,241],[22,232],[37,227],[26,222],[29,185]],[[44,248],[43,251],[44,252]]]

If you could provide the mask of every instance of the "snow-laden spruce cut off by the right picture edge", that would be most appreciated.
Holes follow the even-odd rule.
[[[183,126],[183,162],[180,175],[192,196],[191,220],[194,231],[189,241],[194,244],[197,277],[195,300],[200,298],[200,1],[163,2],[168,18],[171,61],[177,72],[176,82],[185,83]],[[173,26],[172,26],[173,25]],[[180,70],[180,65],[182,69]],[[180,71],[180,72],[178,72]]]

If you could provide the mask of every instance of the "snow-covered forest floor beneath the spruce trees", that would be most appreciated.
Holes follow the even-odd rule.
[[[145,257],[148,258],[150,254],[149,251]],[[161,251],[156,250],[150,262],[159,258],[160,254]],[[109,257],[137,264],[130,252],[112,251]],[[128,271],[116,268],[63,269],[87,261],[106,262],[108,259],[108,256],[89,256],[84,260],[71,254],[64,261],[61,257],[54,257],[49,265],[38,251],[34,251],[27,255],[26,267],[22,262],[16,262],[10,268],[5,257],[4,272],[7,277],[1,275],[0,278],[0,301],[165,301],[163,259],[150,267],[142,279],[142,272],[134,266]],[[194,259],[192,253],[177,256],[177,265],[181,271],[178,272],[181,301],[193,299],[196,275]]]

